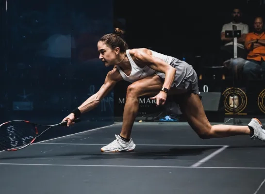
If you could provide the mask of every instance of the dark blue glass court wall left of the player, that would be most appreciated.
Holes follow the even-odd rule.
[[[0,18],[0,123],[55,124],[99,90],[110,68],[97,42],[113,32],[113,1],[7,0]],[[113,109],[112,92],[82,116],[82,127],[53,135],[113,124]]]

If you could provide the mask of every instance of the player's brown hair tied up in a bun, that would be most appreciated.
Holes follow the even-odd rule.
[[[123,30],[116,28],[114,33],[105,34],[99,39],[99,41],[104,42],[108,47],[112,49],[118,47],[120,49],[120,52],[125,52],[129,47],[121,37],[123,34]]]

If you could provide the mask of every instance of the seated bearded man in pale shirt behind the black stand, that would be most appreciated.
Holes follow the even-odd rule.
[[[224,45],[221,47],[222,61],[233,58],[233,38],[226,38],[225,31],[232,31],[233,26],[236,30],[241,30],[241,37],[237,38],[237,57],[246,59],[245,38],[248,33],[248,25],[241,22],[242,13],[240,9],[235,8],[232,12],[232,21],[224,24],[221,31],[221,40]]]

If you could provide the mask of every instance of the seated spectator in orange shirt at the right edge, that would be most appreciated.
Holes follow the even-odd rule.
[[[254,32],[249,32],[245,39],[245,48],[248,50],[246,65],[243,74],[248,80],[265,80],[265,30],[263,18],[254,20]]]

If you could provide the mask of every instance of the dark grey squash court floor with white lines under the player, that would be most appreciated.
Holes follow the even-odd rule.
[[[100,152],[120,129],[0,152],[0,194],[265,194],[265,142],[202,140],[187,123],[135,123],[133,152]]]

